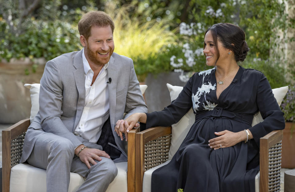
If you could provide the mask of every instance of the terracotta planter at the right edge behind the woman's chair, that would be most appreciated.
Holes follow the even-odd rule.
[[[291,130],[293,127],[293,130]],[[286,122],[282,140],[282,167],[295,168],[295,123]],[[293,132],[293,133],[292,133]]]

